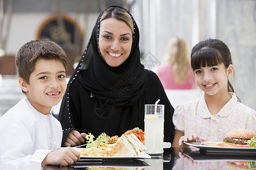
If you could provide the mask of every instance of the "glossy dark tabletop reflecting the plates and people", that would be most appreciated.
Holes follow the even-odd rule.
[[[256,166],[256,154],[228,154],[228,153],[207,153],[197,148],[168,148],[164,150],[162,159],[144,160],[92,160],[90,162],[80,160],[72,167],[47,166],[44,170],[74,170],[74,169],[242,169],[244,165],[236,165],[231,161],[240,161],[244,164],[249,160],[250,164]],[[128,168],[129,167],[129,168]],[[232,167],[232,168],[231,168]],[[256,167],[255,167],[256,168]]]

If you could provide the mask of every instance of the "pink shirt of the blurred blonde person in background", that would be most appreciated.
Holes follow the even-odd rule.
[[[162,65],[160,65],[157,69],[157,74],[161,83],[163,84],[164,89],[193,89],[196,86],[192,70],[184,84],[175,83],[171,63],[162,63]]]

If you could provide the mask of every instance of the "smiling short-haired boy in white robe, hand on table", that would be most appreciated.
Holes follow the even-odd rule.
[[[50,113],[67,88],[64,50],[50,40],[32,40],[19,49],[15,62],[26,97],[0,118],[0,169],[76,163],[79,152],[60,148],[61,125]]]

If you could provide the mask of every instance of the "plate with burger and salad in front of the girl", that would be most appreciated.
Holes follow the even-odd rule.
[[[186,145],[197,147],[205,152],[244,153],[256,155],[256,134],[245,129],[230,131],[222,142],[184,142]]]

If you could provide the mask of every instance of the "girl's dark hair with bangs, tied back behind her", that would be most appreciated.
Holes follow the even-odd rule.
[[[227,69],[232,64],[231,53],[228,46],[217,39],[207,39],[196,44],[191,52],[191,67],[193,70],[200,67],[211,67],[224,63]],[[234,92],[232,84],[228,80],[228,92]]]

